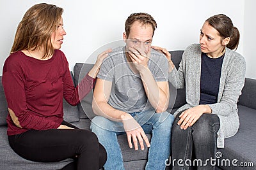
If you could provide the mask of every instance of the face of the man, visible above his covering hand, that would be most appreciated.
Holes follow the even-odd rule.
[[[126,50],[129,51],[129,47],[140,48],[145,53],[150,50],[151,42],[153,38],[153,28],[150,24],[142,25],[136,21],[132,24],[130,34],[126,35],[124,32],[123,39],[126,43]]]

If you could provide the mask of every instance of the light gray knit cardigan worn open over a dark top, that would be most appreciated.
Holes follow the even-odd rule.
[[[176,89],[186,87],[186,103],[175,111],[198,106],[200,100],[201,50],[199,44],[188,46],[182,55],[179,69],[169,73],[169,81]],[[244,86],[246,63],[242,55],[226,48],[221,67],[218,101],[209,104],[212,114],[220,118],[217,147],[224,148],[224,139],[234,136],[239,128],[237,100]],[[172,94],[171,94],[172,95]]]

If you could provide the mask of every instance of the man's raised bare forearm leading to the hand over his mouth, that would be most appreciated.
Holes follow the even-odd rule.
[[[140,75],[150,104],[152,104],[158,113],[165,111],[169,103],[169,90],[164,92],[164,90],[159,88],[149,69],[141,71]]]

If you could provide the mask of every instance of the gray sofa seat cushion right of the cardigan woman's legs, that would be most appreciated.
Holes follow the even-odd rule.
[[[221,159],[228,159],[230,166],[220,166],[223,169],[244,169],[240,163],[256,165],[256,110],[238,105],[240,127],[235,136],[225,139],[225,148],[218,149]],[[237,159],[237,167],[232,166],[232,160]],[[225,165],[225,164],[223,164]],[[249,167],[248,167],[249,168]],[[250,167],[252,169],[252,167]],[[249,168],[249,169],[250,169]]]

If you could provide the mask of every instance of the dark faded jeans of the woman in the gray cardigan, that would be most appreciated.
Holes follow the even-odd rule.
[[[193,126],[180,129],[177,115],[172,126],[172,166],[173,169],[215,169],[211,160],[216,159],[217,132],[220,119],[211,113],[203,114]],[[193,157],[192,157],[193,155]]]

